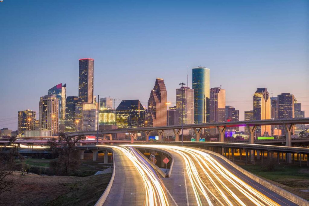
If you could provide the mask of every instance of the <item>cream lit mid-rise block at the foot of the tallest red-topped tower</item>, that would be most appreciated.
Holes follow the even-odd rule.
[[[98,105],[78,102],[75,106],[75,123],[77,131],[93,131],[97,129]]]

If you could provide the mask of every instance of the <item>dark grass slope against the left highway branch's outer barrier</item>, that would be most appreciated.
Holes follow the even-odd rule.
[[[44,206],[94,205],[107,187],[112,174],[87,177],[78,183],[63,184],[69,191],[48,201]]]

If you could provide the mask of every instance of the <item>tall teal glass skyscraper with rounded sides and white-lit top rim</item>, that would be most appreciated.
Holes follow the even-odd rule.
[[[206,123],[207,102],[210,98],[210,69],[192,68],[192,89],[194,89],[194,123]]]

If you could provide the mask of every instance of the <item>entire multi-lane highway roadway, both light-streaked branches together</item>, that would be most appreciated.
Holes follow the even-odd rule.
[[[173,145],[103,147],[113,149],[115,161],[104,205],[297,205],[207,151]],[[161,179],[133,147],[171,154],[171,177]]]

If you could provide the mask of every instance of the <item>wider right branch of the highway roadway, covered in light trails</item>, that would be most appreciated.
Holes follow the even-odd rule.
[[[170,205],[296,205],[210,153],[170,145],[131,146],[173,155],[171,178],[163,180],[176,201],[169,200]]]

